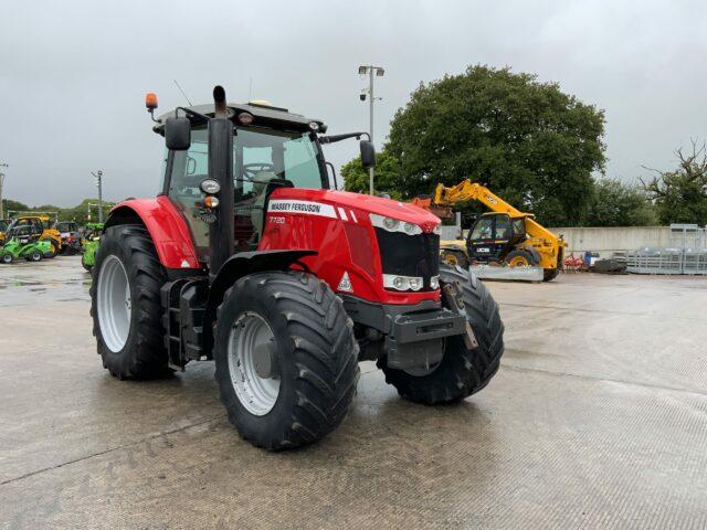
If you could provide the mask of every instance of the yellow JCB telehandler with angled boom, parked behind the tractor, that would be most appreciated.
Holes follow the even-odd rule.
[[[466,241],[442,241],[442,258],[451,264],[505,264],[541,267],[544,280],[557,277],[567,243],[482,184],[464,180],[454,187],[437,184],[431,208],[451,208],[468,201],[485,204],[490,212],[479,215]]]

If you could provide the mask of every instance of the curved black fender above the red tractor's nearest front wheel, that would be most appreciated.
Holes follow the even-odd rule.
[[[213,347],[213,322],[217,310],[223,301],[223,295],[240,278],[264,271],[287,271],[300,258],[314,256],[317,251],[253,251],[232,255],[219,269],[209,289],[207,310],[203,317],[203,351],[211,353]],[[304,268],[306,266],[303,265]]]

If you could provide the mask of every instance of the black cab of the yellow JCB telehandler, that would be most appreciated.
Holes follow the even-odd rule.
[[[503,262],[508,253],[527,239],[526,216],[484,213],[468,231],[466,248],[472,262]]]

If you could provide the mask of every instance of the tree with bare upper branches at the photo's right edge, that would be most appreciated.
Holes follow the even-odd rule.
[[[683,148],[675,151],[679,161],[674,171],[658,171],[652,180],[642,181],[648,197],[654,201],[664,224],[707,224],[707,153],[705,144],[697,147],[692,140],[692,152]]]

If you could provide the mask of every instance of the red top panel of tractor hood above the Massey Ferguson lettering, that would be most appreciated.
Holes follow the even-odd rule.
[[[309,190],[303,188],[283,188],[271,195],[271,201],[304,201],[309,203],[334,206],[339,216],[346,215],[346,210],[355,212],[374,213],[397,219],[404,223],[420,226],[424,232],[431,232],[440,225],[440,218],[407,202],[383,199],[381,197],[362,195],[347,191]],[[287,203],[284,203],[286,206]],[[295,208],[297,208],[295,205]],[[268,209],[271,212],[275,209]],[[340,211],[342,210],[342,211]]]

